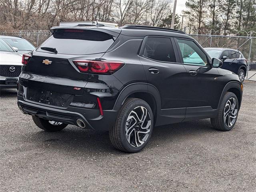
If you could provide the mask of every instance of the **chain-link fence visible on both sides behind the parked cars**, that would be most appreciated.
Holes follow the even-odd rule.
[[[21,36],[30,41],[34,46],[38,47],[48,37],[51,32],[48,30],[40,31],[12,31],[0,32],[0,35]],[[248,36],[221,36],[212,34],[190,34],[191,37],[196,39],[204,48],[206,47],[219,47],[219,48],[232,48],[242,52],[247,59],[247,73],[246,80],[256,81],[256,37],[252,37],[252,33]]]

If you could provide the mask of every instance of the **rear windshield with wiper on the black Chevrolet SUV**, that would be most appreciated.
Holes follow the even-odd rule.
[[[56,48],[58,54],[86,55],[106,52],[113,44],[110,34],[95,30],[58,29],[38,49],[49,52],[41,47]]]

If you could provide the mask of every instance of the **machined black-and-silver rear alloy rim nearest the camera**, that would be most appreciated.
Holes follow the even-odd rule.
[[[125,128],[125,136],[128,143],[133,147],[140,147],[150,134],[151,117],[148,110],[144,106],[134,108],[127,120]]]

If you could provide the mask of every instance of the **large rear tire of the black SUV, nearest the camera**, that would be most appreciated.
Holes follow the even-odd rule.
[[[141,106],[141,107],[139,107],[139,106]],[[147,111],[144,108],[146,108]],[[136,110],[141,110],[141,112],[144,111],[144,113],[141,113],[141,116],[138,115],[137,117],[139,117],[139,118],[137,118],[137,120],[135,118],[131,118],[130,120],[128,120],[128,117],[130,118],[130,116],[132,116],[131,114],[134,115],[133,112]],[[135,122],[138,122],[140,117],[141,117],[141,119],[143,119],[142,116],[143,116],[143,114],[145,114],[145,111],[146,111],[146,117],[145,117],[145,120],[143,121],[144,123],[135,124],[134,126],[130,126],[130,128],[132,128],[131,129],[132,131],[130,131],[130,134],[129,134],[130,139],[128,139],[126,137],[126,132],[128,132],[126,130],[126,128],[127,128],[126,126],[129,126],[128,124],[134,124]],[[135,117],[135,115],[134,115],[134,117]],[[140,122],[142,122],[142,121],[140,121]],[[147,134],[144,134],[144,133],[141,133],[140,131],[143,130],[145,132],[145,129],[142,129],[142,127],[144,127],[144,128],[147,127],[147,126],[145,126],[146,123],[150,124],[150,128],[148,130],[149,132]],[[138,125],[138,126],[140,125],[140,126],[138,127],[136,125]],[[146,146],[146,144],[150,140],[150,137],[151,137],[152,131],[153,131],[153,126],[154,126],[154,117],[153,117],[153,113],[152,113],[152,110],[151,110],[149,104],[147,102],[145,102],[144,100],[141,100],[138,98],[128,98],[122,105],[122,107],[118,113],[118,116],[116,118],[116,122],[115,122],[114,126],[109,131],[110,141],[113,144],[114,148],[116,148],[120,151],[130,152],[130,153],[139,152],[140,150],[142,150],[142,148],[144,148]],[[139,133],[136,131],[139,131],[140,134],[142,134],[142,135],[137,136],[137,135],[139,135]],[[133,140],[133,138],[134,138],[134,140]],[[139,139],[139,141],[140,141],[140,139],[142,139],[142,141],[144,140],[144,143],[141,144],[138,142],[141,145],[140,146],[137,145],[136,138],[137,138],[137,141],[138,141],[138,139]],[[130,143],[128,140],[130,140]],[[136,146],[134,146],[134,145],[136,145]]]

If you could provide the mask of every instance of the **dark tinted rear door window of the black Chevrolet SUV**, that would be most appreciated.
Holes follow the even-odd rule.
[[[148,37],[143,55],[158,61],[176,62],[170,38]]]

